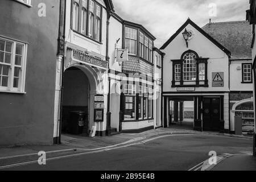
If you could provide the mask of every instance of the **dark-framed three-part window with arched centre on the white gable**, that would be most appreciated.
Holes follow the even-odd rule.
[[[180,60],[172,60],[172,87],[208,87],[207,69],[208,58],[194,51],[183,53]]]

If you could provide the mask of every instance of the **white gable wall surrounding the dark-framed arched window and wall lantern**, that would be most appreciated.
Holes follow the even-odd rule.
[[[204,35],[193,28],[190,24],[187,30],[192,30],[194,36],[188,42],[188,48],[183,38],[182,32],[163,50],[166,53],[163,63],[163,92],[177,92],[176,88],[171,88],[172,85],[172,61],[181,59],[181,55],[189,49],[195,51],[200,57],[209,57],[208,60],[208,80],[209,88],[196,88],[199,92],[209,91],[229,91],[229,59],[228,55],[210,42]],[[212,87],[212,72],[224,72],[224,87]]]

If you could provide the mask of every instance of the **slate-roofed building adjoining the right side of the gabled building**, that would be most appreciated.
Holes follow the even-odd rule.
[[[235,133],[236,117],[242,117],[242,131],[254,131],[251,27],[246,21],[208,23],[202,28],[229,49],[230,133]]]

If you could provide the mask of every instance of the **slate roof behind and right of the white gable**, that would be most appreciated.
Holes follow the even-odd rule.
[[[251,59],[251,26],[246,21],[208,23],[202,29],[231,52],[231,59]]]

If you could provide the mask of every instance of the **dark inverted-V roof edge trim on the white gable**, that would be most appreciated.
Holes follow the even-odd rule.
[[[192,22],[191,19],[188,18],[188,20],[179,28],[179,30],[176,31],[174,35],[171,36],[169,40],[167,40],[166,43],[163,44],[163,46],[160,49],[165,49],[171,42],[176,38],[177,35],[180,34],[181,31],[184,30],[185,27],[187,27],[188,24],[191,24],[194,28],[196,28],[197,31],[199,31],[201,34],[203,34],[206,38],[208,38],[213,44],[215,44],[218,48],[220,48],[222,51],[224,51],[228,56],[230,56],[230,51],[226,49],[222,44],[217,42],[217,40],[213,39],[212,36],[207,34],[202,28],[197,26],[196,23]]]

